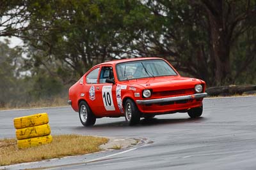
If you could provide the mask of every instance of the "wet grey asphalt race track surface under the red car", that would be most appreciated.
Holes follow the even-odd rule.
[[[121,117],[100,118],[84,128],[70,107],[0,111],[0,138],[15,137],[13,118],[42,112],[49,114],[52,134],[136,138],[141,144],[8,169],[256,169],[256,97],[204,99],[201,118],[161,115],[135,127]]]

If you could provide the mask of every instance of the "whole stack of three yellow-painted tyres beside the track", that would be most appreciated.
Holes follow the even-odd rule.
[[[28,148],[52,142],[47,113],[13,119],[18,148]]]

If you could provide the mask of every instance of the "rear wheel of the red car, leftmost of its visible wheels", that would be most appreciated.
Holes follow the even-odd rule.
[[[81,123],[86,127],[93,126],[96,122],[95,115],[93,115],[92,110],[85,101],[79,103],[79,118]]]

